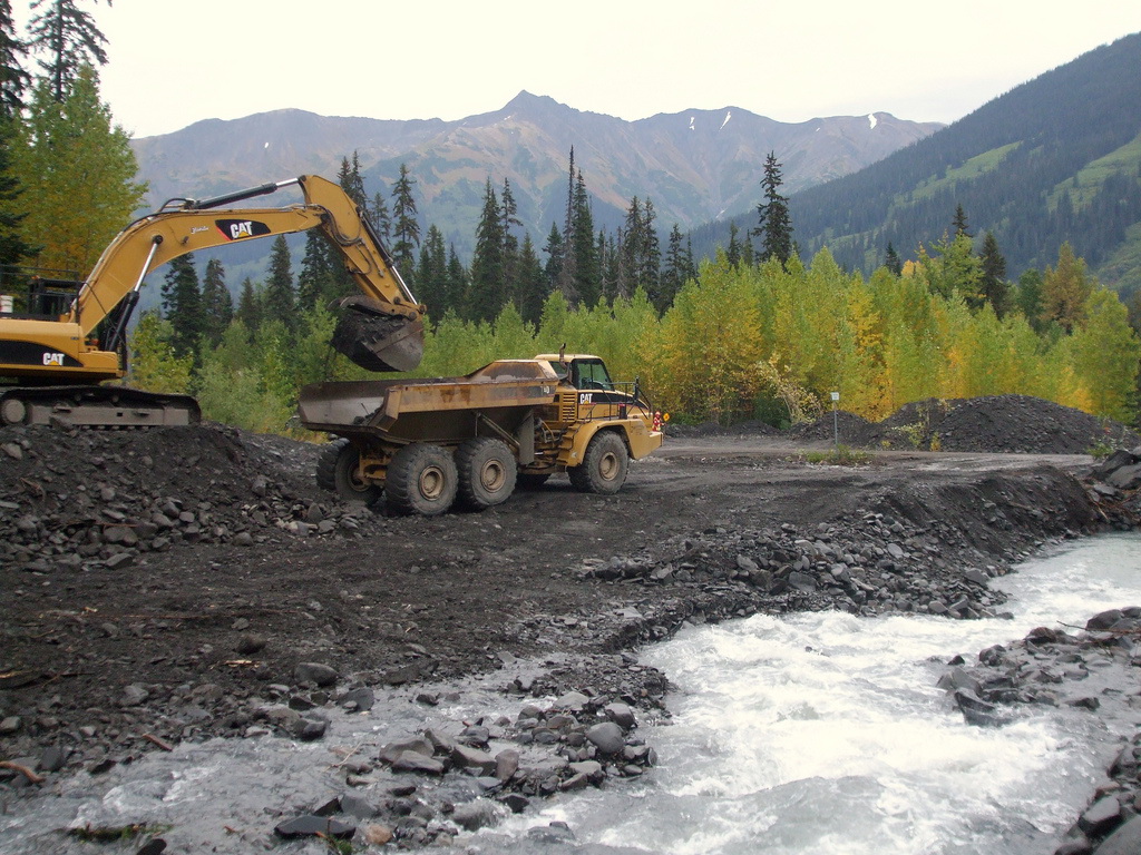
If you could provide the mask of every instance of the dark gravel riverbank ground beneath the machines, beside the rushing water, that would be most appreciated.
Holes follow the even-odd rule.
[[[678,438],[614,497],[552,480],[431,520],[330,503],[310,486],[311,447],[219,426],[3,429],[0,446],[10,797],[179,742],[321,741],[371,693],[431,684],[428,710],[448,681],[501,675],[534,699],[529,720],[467,735],[456,723],[405,748],[431,771],[400,773],[382,752],[340,769],[342,795],[378,811],[356,833],[407,846],[483,821],[455,821],[456,804],[415,781],[477,771],[487,789],[469,800],[521,808],[650,766],[631,719],[666,715],[669,675],[633,653],[687,622],[823,609],[969,620],[1001,612],[987,583],[1013,563],[1136,511],[1131,494],[1099,491],[1084,456],[881,451],[848,469],[756,435]],[[516,661],[548,665],[513,674]],[[266,806],[280,821],[285,807]],[[280,836],[278,820],[260,833]]]

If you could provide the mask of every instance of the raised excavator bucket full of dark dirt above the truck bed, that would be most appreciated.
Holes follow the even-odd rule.
[[[424,327],[420,318],[394,315],[365,296],[339,300],[332,345],[362,368],[372,372],[410,372],[420,365]]]

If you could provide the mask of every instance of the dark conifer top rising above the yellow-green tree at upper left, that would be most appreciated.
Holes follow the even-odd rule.
[[[107,0],[111,5],[111,0]],[[63,103],[87,65],[106,65],[107,43],[95,19],[75,0],[32,0],[27,26],[29,47],[46,58],[39,60],[51,97]]]

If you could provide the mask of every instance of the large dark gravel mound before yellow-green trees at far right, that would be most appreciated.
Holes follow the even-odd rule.
[[[1132,430],[1025,394],[908,404],[880,423],[881,445],[944,451],[1087,454],[1099,443],[1134,447]]]

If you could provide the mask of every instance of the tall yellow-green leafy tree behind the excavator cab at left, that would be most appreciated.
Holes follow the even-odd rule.
[[[13,147],[13,176],[35,204],[22,238],[41,247],[37,263],[87,272],[141,204],[130,138],[100,103],[91,66],[79,71],[63,103],[37,85]]]

